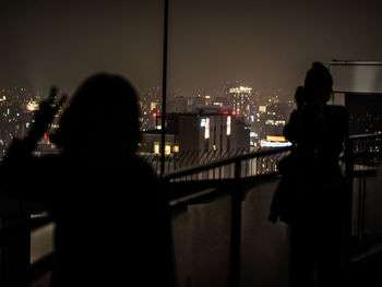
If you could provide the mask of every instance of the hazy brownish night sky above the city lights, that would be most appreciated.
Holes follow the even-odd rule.
[[[291,94],[312,61],[382,60],[382,1],[169,0],[168,84],[184,96],[239,80]],[[5,1],[0,86],[72,92],[92,73],[162,83],[163,1]]]

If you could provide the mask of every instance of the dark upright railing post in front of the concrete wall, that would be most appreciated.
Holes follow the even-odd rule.
[[[231,200],[231,241],[230,241],[230,286],[240,286],[240,259],[241,259],[241,199],[242,189],[240,182],[241,162],[235,162],[235,188]]]

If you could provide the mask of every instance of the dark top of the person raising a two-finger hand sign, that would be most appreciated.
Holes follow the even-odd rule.
[[[146,163],[88,166],[26,150],[12,144],[0,182],[12,196],[43,203],[56,223],[52,286],[170,285],[167,199]]]

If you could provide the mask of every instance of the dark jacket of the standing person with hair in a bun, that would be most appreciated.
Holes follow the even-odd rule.
[[[282,178],[271,204],[272,222],[320,222],[323,214],[330,218],[341,212],[347,186],[338,157],[347,129],[347,111],[341,106],[326,106],[323,112],[305,106],[291,113],[284,135],[294,150],[278,163]]]

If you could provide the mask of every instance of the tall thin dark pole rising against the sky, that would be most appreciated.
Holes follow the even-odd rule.
[[[167,95],[167,41],[168,41],[168,0],[165,0],[164,39],[163,39],[163,74],[162,74],[162,133],[160,133],[160,177],[165,174],[166,144],[166,95]]]

